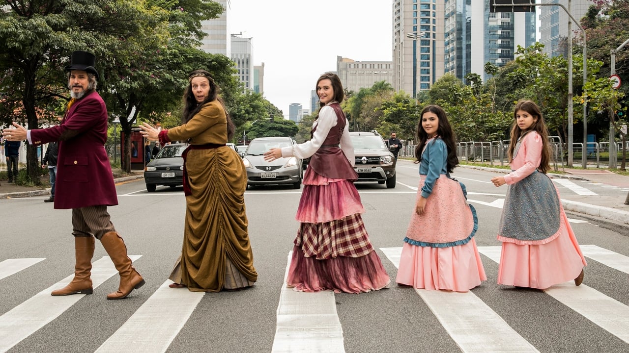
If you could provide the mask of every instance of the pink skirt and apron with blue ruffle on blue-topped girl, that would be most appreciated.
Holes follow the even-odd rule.
[[[424,176],[417,199],[421,196]],[[459,182],[440,176],[422,215],[411,214],[396,282],[426,290],[469,291],[487,280],[474,234],[477,219]]]

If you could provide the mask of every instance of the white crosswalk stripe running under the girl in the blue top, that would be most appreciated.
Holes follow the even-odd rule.
[[[381,247],[399,268],[401,247]],[[462,352],[538,352],[471,291],[415,290]]]

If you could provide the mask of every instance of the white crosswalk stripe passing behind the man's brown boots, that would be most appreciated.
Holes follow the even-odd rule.
[[[131,255],[129,258],[135,261],[141,256]],[[98,261],[94,261],[92,263],[92,287],[96,288],[102,285],[104,281],[117,273],[118,270],[114,267],[109,256],[103,256]],[[63,280],[40,291],[0,316],[0,353],[6,352],[36,330],[41,329],[48,322],[55,320],[55,318],[85,296],[84,294],[50,295],[51,291],[63,288],[72,281],[72,278],[74,278],[74,274],[70,274]]]

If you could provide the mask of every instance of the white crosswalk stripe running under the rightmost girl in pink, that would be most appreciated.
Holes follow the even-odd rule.
[[[479,246],[478,251],[500,263],[500,246]],[[629,307],[620,301],[587,285],[575,286],[574,281],[559,283],[543,291],[601,329],[629,343]]]

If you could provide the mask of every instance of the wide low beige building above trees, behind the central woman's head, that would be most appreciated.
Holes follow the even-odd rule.
[[[343,89],[358,92],[370,88],[376,82],[385,81],[393,85],[393,62],[355,62],[337,57],[337,75]]]

